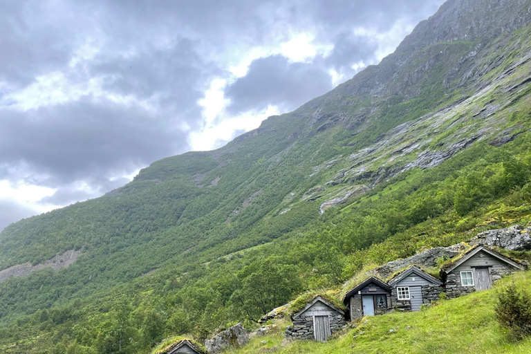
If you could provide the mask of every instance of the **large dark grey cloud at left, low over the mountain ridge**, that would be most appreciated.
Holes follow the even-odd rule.
[[[24,113],[3,109],[0,115],[0,165],[27,165],[33,173],[26,179],[48,187],[131,173],[187,149],[171,121],[93,97]],[[0,170],[0,178],[20,176]]]

